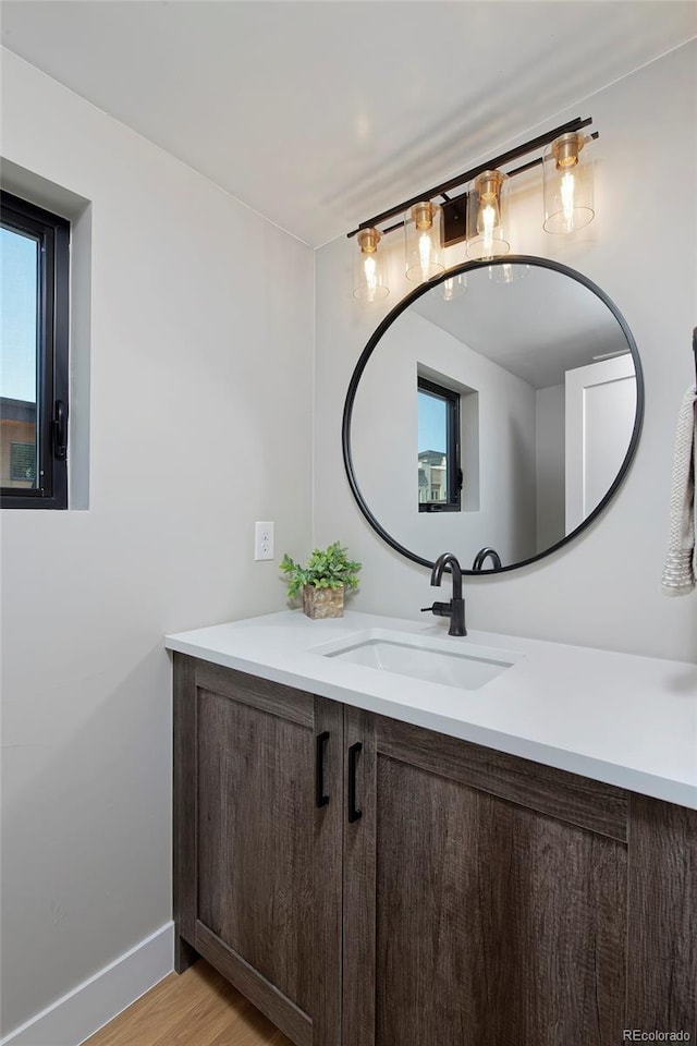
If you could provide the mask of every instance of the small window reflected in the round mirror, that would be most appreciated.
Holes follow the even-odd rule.
[[[460,393],[419,375],[417,396],[418,510],[458,512]]]

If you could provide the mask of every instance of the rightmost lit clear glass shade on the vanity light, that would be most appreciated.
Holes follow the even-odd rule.
[[[545,157],[545,232],[576,232],[595,217],[592,160],[584,149],[588,142],[576,132],[563,134]]]

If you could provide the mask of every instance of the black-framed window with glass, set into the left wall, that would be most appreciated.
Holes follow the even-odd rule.
[[[70,223],[0,194],[0,504],[68,508]]]

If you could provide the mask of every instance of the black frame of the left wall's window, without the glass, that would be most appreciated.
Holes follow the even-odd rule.
[[[39,243],[36,303],[38,482],[35,489],[0,487],[0,508],[66,509],[70,221],[2,190],[0,223]],[[0,404],[8,405],[1,400]]]

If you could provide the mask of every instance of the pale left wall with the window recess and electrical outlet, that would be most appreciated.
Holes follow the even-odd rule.
[[[2,514],[3,1031],[171,917],[168,631],[310,542],[313,253],[3,52],[2,154],[91,200],[86,511]]]

